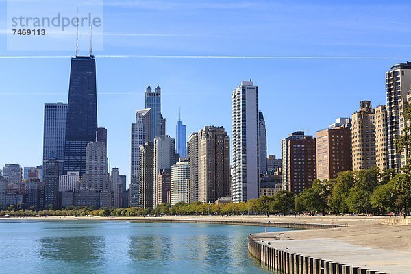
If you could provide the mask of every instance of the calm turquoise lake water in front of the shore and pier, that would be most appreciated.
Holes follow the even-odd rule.
[[[270,227],[269,231],[286,230]],[[270,273],[249,256],[264,227],[0,221],[0,273]]]

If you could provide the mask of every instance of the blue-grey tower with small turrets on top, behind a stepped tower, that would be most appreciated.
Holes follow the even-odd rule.
[[[160,136],[162,133],[162,115],[161,115],[161,88],[157,86],[155,91],[151,91],[150,85],[145,92],[145,108],[151,108],[151,138]],[[165,125],[164,129],[165,129]],[[151,142],[152,140],[147,140]]]

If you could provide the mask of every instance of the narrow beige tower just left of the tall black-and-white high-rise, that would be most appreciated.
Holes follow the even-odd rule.
[[[377,108],[375,108],[375,162],[380,171],[385,171],[386,169],[388,169],[387,128],[388,128],[387,108],[385,105],[379,105],[377,106]],[[400,128],[401,128],[401,125],[400,125]],[[401,155],[401,164],[402,164],[402,155]]]

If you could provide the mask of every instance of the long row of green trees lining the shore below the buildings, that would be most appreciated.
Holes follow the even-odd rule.
[[[411,175],[410,175],[411,176]],[[409,186],[408,186],[409,185]],[[411,205],[411,179],[393,170],[377,167],[344,171],[331,180],[314,180],[299,195],[281,190],[241,203],[163,203],[156,208],[96,208],[68,206],[57,210],[10,205],[0,216],[408,216]],[[0,205],[0,208],[2,205]]]

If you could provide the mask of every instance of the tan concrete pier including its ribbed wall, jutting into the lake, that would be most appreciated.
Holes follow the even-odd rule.
[[[388,219],[332,229],[252,234],[248,247],[262,264],[286,274],[408,274],[411,227],[406,223]]]

